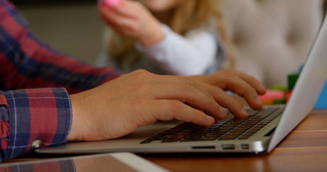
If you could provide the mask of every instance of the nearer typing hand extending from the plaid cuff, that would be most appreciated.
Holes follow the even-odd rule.
[[[68,141],[124,136],[157,120],[211,126],[226,111],[194,79],[137,70],[94,89],[71,95]]]

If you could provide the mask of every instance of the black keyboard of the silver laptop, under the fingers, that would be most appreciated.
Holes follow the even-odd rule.
[[[234,118],[228,112],[226,119],[215,123],[211,127],[184,122],[140,143],[146,144],[155,140],[167,143],[247,139],[282,114],[284,107],[264,107],[262,110],[248,109],[247,111],[249,118]]]

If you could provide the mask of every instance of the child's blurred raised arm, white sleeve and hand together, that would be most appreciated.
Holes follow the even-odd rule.
[[[137,49],[168,74],[208,74],[219,67],[218,41],[208,31],[191,31],[193,34],[183,37],[160,24],[142,4],[134,1],[123,0],[110,7],[101,5],[99,10],[112,29],[135,38]]]

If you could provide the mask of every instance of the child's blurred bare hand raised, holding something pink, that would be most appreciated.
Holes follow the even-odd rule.
[[[137,39],[142,45],[153,45],[163,39],[160,22],[137,1],[121,0],[111,7],[100,5],[101,17],[116,32]]]

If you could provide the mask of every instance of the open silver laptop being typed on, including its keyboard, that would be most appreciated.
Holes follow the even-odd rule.
[[[287,105],[247,108],[249,118],[231,113],[211,127],[177,120],[139,127],[112,140],[70,142],[39,153],[270,152],[313,109],[327,79],[327,18],[309,53]]]

